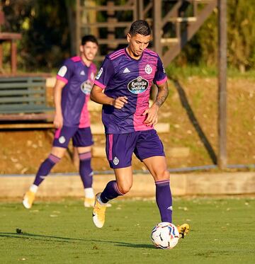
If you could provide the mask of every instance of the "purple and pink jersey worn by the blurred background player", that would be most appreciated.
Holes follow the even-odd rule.
[[[66,84],[62,89],[62,115],[66,127],[89,127],[87,108],[89,95],[94,83],[96,65],[87,67],[81,57],[67,59],[57,72],[57,79]]]

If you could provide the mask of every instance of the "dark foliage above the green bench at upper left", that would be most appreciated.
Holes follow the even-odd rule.
[[[67,1],[68,2],[68,1]],[[19,68],[49,71],[69,55],[67,7],[62,1],[2,1],[4,30],[22,33]]]

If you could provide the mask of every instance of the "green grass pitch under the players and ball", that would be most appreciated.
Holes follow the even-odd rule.
[[[116,200],[97,229],[82,202],[0,202],[0,263],[254,263],[254,197],[174,199],[174,224],[191,232],[172,250],[157,249],[154,200]],[[16,229],[22,229],[17,234]]]

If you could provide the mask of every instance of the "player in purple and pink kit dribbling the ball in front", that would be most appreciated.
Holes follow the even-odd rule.
[[[161,59],[147,49],[151,35],[146,21],[132,23],[128,47],[106,56],[91,90],[91,100],[103,104],[106,155],[115,172],[115,180],[96,195],[93,221],[98,228],[105,222],[107,202],[125,195],[132,187],[132,153],[145,163],[154,178],[162,222],[172,222],[169,171],[163,144],[153,127],[169,91]],[[158,93],[149,107],[152,83],[157,85]],[[179,226],[182,236],[188,230],[188,224]]]

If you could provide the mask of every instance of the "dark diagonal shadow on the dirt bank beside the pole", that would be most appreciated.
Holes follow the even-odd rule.
[[[212,159],[212,162],[214,164],[217,164],[217,156],[215,154],[215,151],[212,149],[212,145],[210,144],[208,138],[206,137],[205,133],[202,130],[202,127],[200,127],[198,123],[198,119],[196,118],[196,115],[194,114],[191,105],[188,103],[188,98],[186,96],[186,93],[181,87],[181,84],[178,80],[172,79],[174,81],[174,86],[176,87],[176,90],[179,93],[179,97],[181,100],[181,105],[183,105],[183,108],[186,109],[186,113],[188,115],[189,120],[191,120],[191,123],[193,127],[195,128],[196,132],[198,133],[198,137],[200,137],[201,142],[203,142],[203,145],[205,149],[208,151],[208,154],[210,156],[210,159]]]

